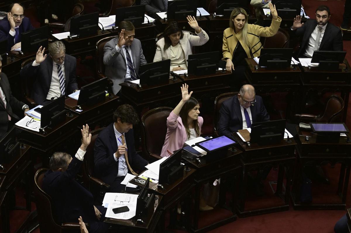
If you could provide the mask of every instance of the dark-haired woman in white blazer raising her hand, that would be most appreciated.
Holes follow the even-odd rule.
[[[195,29],[196,36],[182,32],[177,22],[171,22],[163,32],[163,38],[156,43],[154,62],[171,59],[170,71],[187,69],[188,55],[193,46],[200,46],[208,41],[207,33],[202,30],[194,16],[187,16],[188,24]]]

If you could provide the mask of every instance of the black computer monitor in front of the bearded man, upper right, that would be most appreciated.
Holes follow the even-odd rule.
[[[343,63],[346,51],[314,51],[311,63],[319,63],[320,70],[338,70],[339,63]]]

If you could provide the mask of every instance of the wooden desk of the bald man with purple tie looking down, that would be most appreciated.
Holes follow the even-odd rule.
[[[290,193],[290,180],[291,180],[291,168],[294,165],[295,156],[294,150],[296,142],[291,138],[291,142],[282,140],[277,144],[260,146],[257,143],[251,143],[249,146],[246,142],[243,142],[240,137],[234,133],[236,141],[239,143],[240,148],[244,151],[241,154],[241,166],[243,167],[243,175],[241,177],[241,190],[238,195],[237,211],[240,218],[249,217],[252,215],[272,213],[279,211],[289,210],[289,193]],[[283,205],[277,205],[273,207],[260,208],[255,210],[245,210],[246,192],[247,192],[247,173],[250,170],[258,169],[263,171],[266,166],[278,166],[278,179],[276,196],[283,199]],[[285,194],[282,193],[284,168],[286,168],[286,187]]]

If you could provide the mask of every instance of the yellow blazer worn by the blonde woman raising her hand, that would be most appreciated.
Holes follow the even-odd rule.
[[[258,57],[262,48],[260,36],[274,36],[278,32],[280,22],[282,22],[282,19],[278,16],[278,19],[272,19],[270,27],[261,27],[259,25],[247,24],[247,37],[249,37],[250,47],[247,47],[247,45],[244,44],[243,39],[241,38],[241,31],[236,34],[232,28],[225,29],[223,33],[222,60],[226,60],[227,58],[232,59],[233,52],[237,48],[238,41],[240,41],[241,46],[243,46],[247,57]]]

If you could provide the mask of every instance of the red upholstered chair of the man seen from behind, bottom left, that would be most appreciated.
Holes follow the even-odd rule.
[[[37,205],[40,232],[62,233],[62,232],[80,232],[77,222],[65,222],[58,224],[53,216],[53,203],[51,197],[42,190],[42,181],[47,168],[39,169],[34,176],[34,196]],[[89,229],[89,224],[85,224]]]

